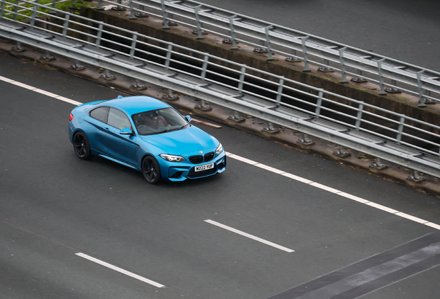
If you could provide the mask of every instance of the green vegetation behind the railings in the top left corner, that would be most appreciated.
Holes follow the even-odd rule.
[[[48,6],[48,8],[42,8],[42,7],[37,8],[38,17],[42,16],[43,13],[47,14],[51,12],[50,8],[52,8],[53,0],[40,0],[37,3],[40,5]],[[18,5],[18,7],[14,6],[13,4]],[[69,11],[75,8],[76,10],[80,10],[82,8],[87,8],[90,5],[91,3],[86,2],[84,0],[76,0],[75,3],[72,3],[72,1],[63,1],[63,2],[60,1],[59,3],[55,3],[55,8],[57,10]],[[14,12],[15,10],[17,10],[16,17],[14,13],[8,13],[8,11]],[[30,16],[32,16],[33,14],[33,10],[34,10],[34,5],[32,3],[26,3],[18,0],[7,0],[5,4],[5,11],[3,12],[3,17],[7,17],[9,19],[13,19],[15,17],[17,21],[23,21],[26,19],[30,19]]]

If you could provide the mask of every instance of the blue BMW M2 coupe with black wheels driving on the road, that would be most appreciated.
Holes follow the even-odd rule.
[[[221,143],[190,121],[161,100],[119,96],[75,107],[68,136],[78,158],[102,156],[142,172],[149,183],[225,171]]]

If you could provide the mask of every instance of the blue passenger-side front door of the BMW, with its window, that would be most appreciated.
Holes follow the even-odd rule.
[[[107,155],[136,165],[136,135],[120,134],[120,130],[126,127],[133,130],[127,114],[119,109],[110,108],[107,125],[102,129],[100,141]]]

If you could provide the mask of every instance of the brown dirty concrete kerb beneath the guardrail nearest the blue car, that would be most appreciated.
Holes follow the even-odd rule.
[[[15,44],[12,42],[0,40],[0,51],[8,55],[18,57],[20,59],[36,62],[39,66],[50,67],[59,71],[63,71],[64,73],[68,73],[71,75],[75,75],[79,78],[89,80],[91,82],[96,82],[98,84],[116,89],[123,93],[127,93],[127,95],[145,95],[152,96],[154,98],[162,98],[164,95],[167,95],[166,89],[161,89],[161,87],[153,86],[148,82],[145,82],[147,89],[143,91],[138,91],[137,89],[131,87],[131,85],[134,84],[135,80],[132,78],[127,78],[124,75],[114,74],[116,75],[116,80],[104,80],[100,77],[102,71],[100,71],[99,69],[95,69],[94,66],[85,65],[86,69],[82,71],[75,71],[74,69],[71,69],[71,65],[74,64],[74,61],[69,60],[66,57],[57,57],[56,60],[46,62],[45,60],[41,60],[40,58],[42,56],[42,52],[35,49],[28,49],[28,51],[18,53],[11,50],[12,46],[14,45]],[[394,181],[396,183],[401,183],[402,185],[406,185],[409,188],[414,188],[421,192],[432,194],[440,198],[439,178],[423,175],[423,178],[425,180],[416,183],[407,179],[407,176],[412,174],[411,170],[403,169],[398,165],[392,165],[391,163],[385,161],[388,167],[383,170],[378,170],[370,167],[370,165],[374,162],[374,157],[365,156],[365,154],[353,151],[351,149],[345,149],[351,155],[345,158],[341,158],[333,154],[333,152],[338,149],[338,145],[328,143],[327,141],[322,141],[318,138],[314,138],[313,136],[311,136],[314,141],[312,145],[302,145],[297,142],[297,140],[302,137],[302,134],[300,134],[299,132],[294,132],[290,129],[285,129],[281,127],[279,128],[279,132],[277,134],[270,134],[268,132],[264,132],[263,129],[267,127],[268,124],[263,120],[258,120],[256,118],[246,118],[246,121],[237,123],[233,120],[228,119],[228,117],[232,115],[232,111],[230,111],[229,109],[210,104],[210,106],[212,106],[211,111],[201,111],[200,109],[194,108],[197,104],[199,104],[199,101],[196,98],[180,94],[178,96],[179,100],[163,100],[165,102],[168,102],[169,105],[172,105],[184,114],[200,116],[208,120],[213,120],[217,123],[222,123],[223,125],[235,127],[242,131],[249,132],[250,134],[261,136],[262,138],[275,141],[277,143],[292,147],[302,152],[307,152],[309,154],[314,154],[322,158],[327,158],[331,161],[339,163],[341,166],[352,167],[356,170],[362,170],[369,174],[379,176],[381,178]]]

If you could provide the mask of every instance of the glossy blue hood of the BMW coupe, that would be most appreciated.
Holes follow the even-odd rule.
[[[216,138],[194,126],[158,135],[140,136],[140,138],[163,149],[167,154],[181,155],[219,146]]]

